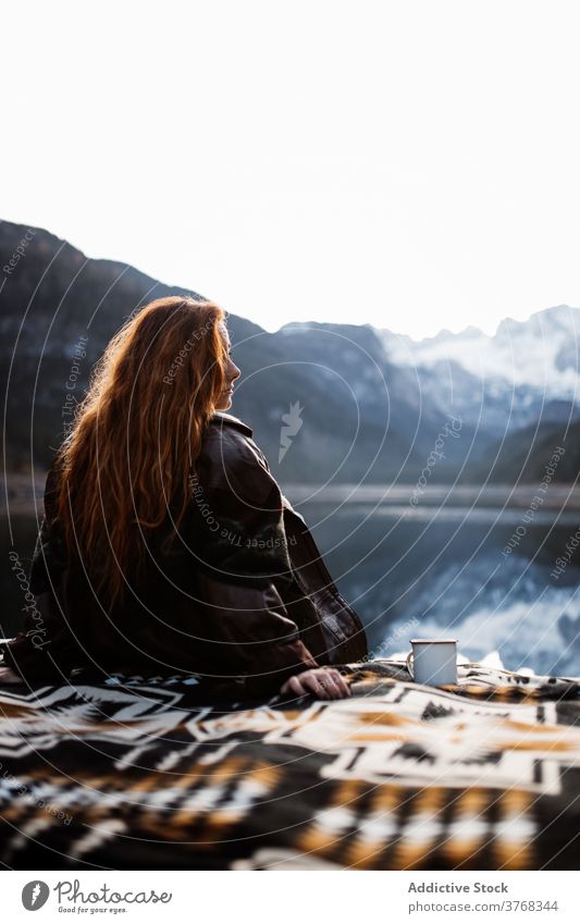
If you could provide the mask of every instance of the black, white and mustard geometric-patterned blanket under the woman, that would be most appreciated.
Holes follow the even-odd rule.
[[[333,702],[184,675],[0,685],[3,866],[578,868],[580,679],[347,669]]]

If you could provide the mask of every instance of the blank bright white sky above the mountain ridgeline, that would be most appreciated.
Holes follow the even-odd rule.
[[[580,5],[27,0],[0,217],[267,330],[580,306]]]

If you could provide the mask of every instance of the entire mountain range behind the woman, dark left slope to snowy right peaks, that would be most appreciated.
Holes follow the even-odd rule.
[[[32,459],[46,469],[71,403],[124,320],[153,298],[202,296],[5,221],[0,268],[7,465]],[[485,480],[502,441],[579,414],[579,309],[507,319],[493,336],[467,328],[415,342],[316,320],[270,333],[224,307],[242,369],[231,410],[254,429],[283,483],[412,484],[425,469],[432,482]],[[508,455],[496,471],[509,480],[517,471]]]

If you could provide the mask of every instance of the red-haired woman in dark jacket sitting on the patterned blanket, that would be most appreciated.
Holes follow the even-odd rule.
[[[47,478],[36,606],[4,644],[30,683],[76,668],[202,675],[248,697],[349,694],[367,654],[249,427],[226,315],[160,298],[95,367]]]

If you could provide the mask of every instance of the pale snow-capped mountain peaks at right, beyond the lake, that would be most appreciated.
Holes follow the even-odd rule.
[[[538,465],[543,458],[545,447],[538,440],[534,445],[536,431],[564,432],[580,417],[578,308],[547,308],[527,321],[508,318],[493,336],[473,327],[422,341],[387,330],[378,333],[388,361],[412,370],[421,393],[439,402],[442,411],[453,409],[473,434],[469,446],[462,441],[459,480],[485,481],[489,475],[492,480],[517,480],[520,454],[533,459],[539,452]],[[533,469],[530,463],[523,477],[531,477]]]

